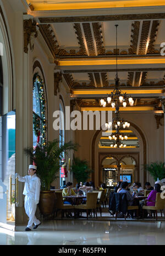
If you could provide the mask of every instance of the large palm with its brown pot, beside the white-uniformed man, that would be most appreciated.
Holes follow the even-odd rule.
[[[30,156],[37,166],[37,176],[41,181],[40,202],[38,207],[42,215],[52,214],[55,206],[55,194],[50,190],[51,183],[58,178],[61,160],[68,150],[76,150],[76,145],[69,141],[59,146],[58,140],[48,141],[44,146],[37,144],[34,148],[26,148],[25,154]]]

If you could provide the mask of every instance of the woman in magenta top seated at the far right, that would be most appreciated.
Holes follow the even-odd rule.
[[[152,190],[150,192],[150,194],[148,195],[148,197],[145,200],[141,200],[140,201],[140,208],[141,208],[141,212],[142,212],[142,206],[146,205],[146,206],[155,206],[155,201],[156,201],[156,194],[157,193],[161,193],[161,185],[160,184],[155,184],[154,186],[154,190]],[[148,211],[148,210],[147,210]],[[149,213],[149,217],[151,218],[151,211],[148,211]]]

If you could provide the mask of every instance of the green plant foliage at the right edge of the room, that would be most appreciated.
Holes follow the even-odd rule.
[[[164,162],[151,162],[148,165],[144,165],[144,170],[150,172],[155,181],[165,178],[165,166]]]

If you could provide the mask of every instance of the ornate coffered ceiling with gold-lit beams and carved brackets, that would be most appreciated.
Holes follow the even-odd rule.
[[[61,70],[79,107],[98,107],[98,97],[106,89],[113,90],[117,54],[121,88],[139,90],[136,106],[161,108],[165,86],[165,58],[160,54],[165,42],[163,1],[31,0],[27,4],[27,13],[36,19],[54,58],[54,69]],[[157,92],[146,97],[141,89]],[[78,95],[76,90],[85,93]],[[94,90],[90,97],[88,90]]]

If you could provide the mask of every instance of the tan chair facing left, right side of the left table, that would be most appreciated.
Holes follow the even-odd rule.
[[[80,204],[80,205],[75,205],[75,209],[79,209],[81,211],[86,210],[86,218],[88,220],[88,214],[89,210],[93,210],[94,217],[96,213],[96,218],[97,218],[97,197],[98,197],[98,192],[89,192],[87,193],[86,196],[86,204]]]

